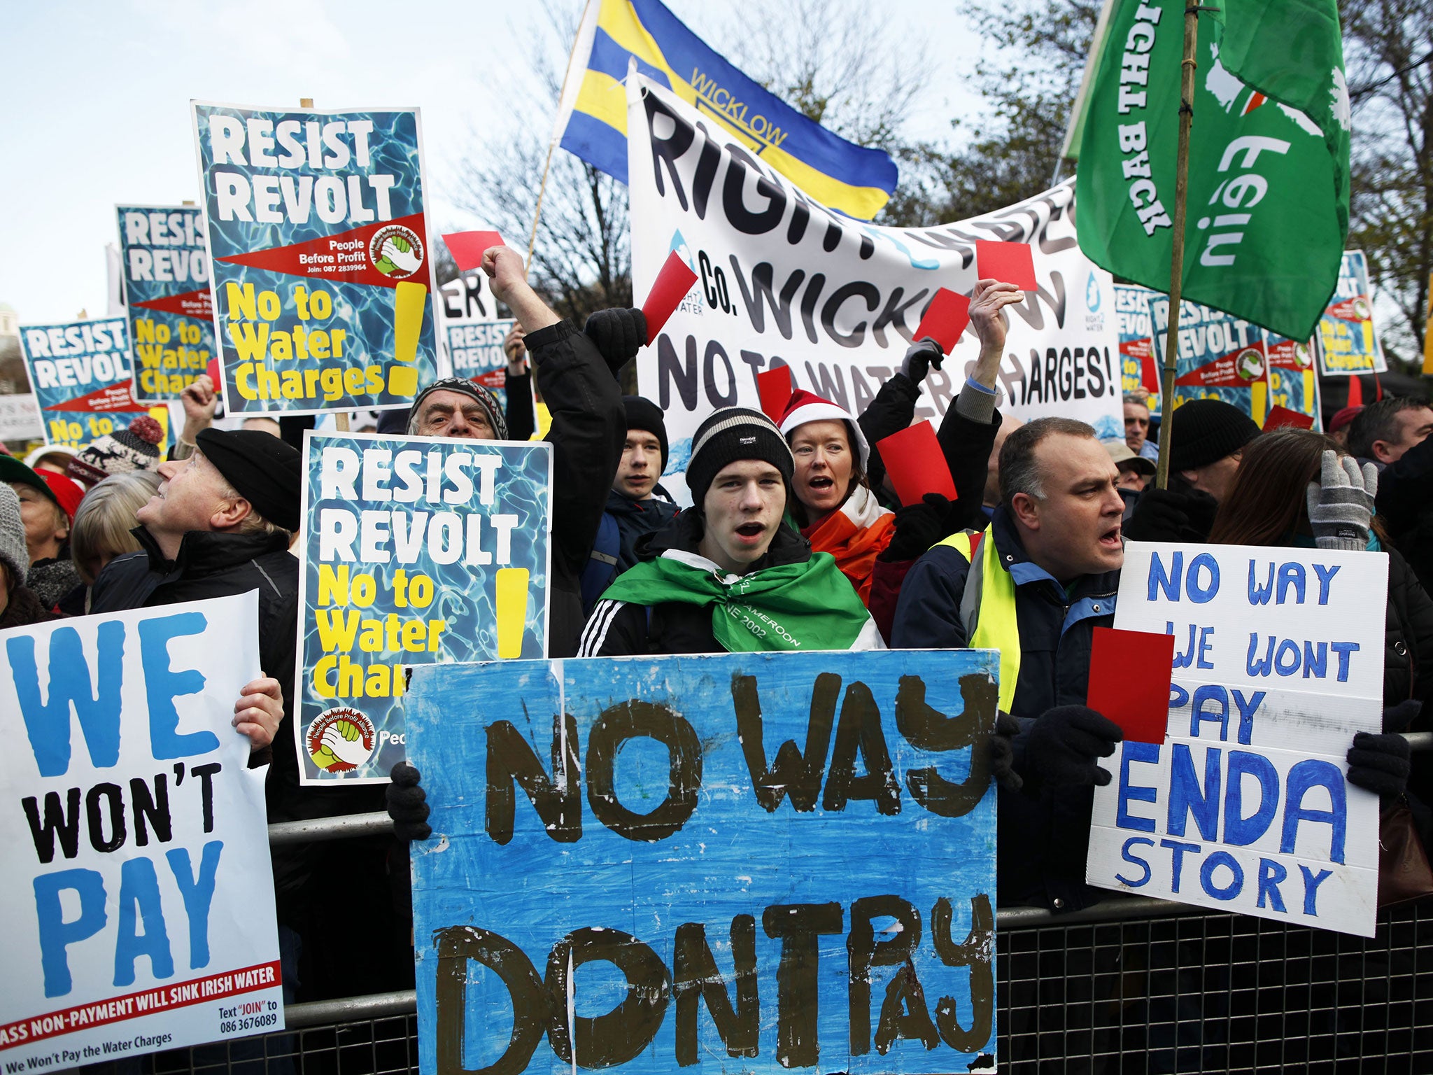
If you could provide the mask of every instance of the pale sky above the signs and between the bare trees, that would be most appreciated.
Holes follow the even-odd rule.
[[[557,3],[576,13],[582,0]],[[729,4],[668,6],[716,47],[731,33]],[[934,83],[909,120],[916,138],[947,139],[950,118],[972,106],[963,83],[977,43],[956,9],[930,0],[871,7],[883,32],[930,42],[937,57]],[[552,40],[530,1],[47,0],[9,3],[3,17],[0,222],[11,255],[0,259],[0,302],[21,324],[105,312],[116,204],[198,199],[191,99],[416,105],[431,222],[471,226],[449,199],[457,161],[474,138],[507,136],[506,102],[537,92],[526,59],[535,42]]]

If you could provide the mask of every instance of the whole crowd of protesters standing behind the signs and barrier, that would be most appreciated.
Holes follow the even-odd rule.
[[[388,413],[380,431],[526,440],[553,450],[552,656],[705,654],[761,648],[725,598],[802,649],[989,646],[1000,651],[1000,715],[977,748],[999,791],[999,900],[1075,910],[1108,897],[1085,884],[1093,788],[1111,774],[1119,727],[1086,705],[1095,628],[1113,624],[1125,539],[1383,550],[1389,555],[1383,734],[1350,737],[1348,781],[1386,806],[1407,801],[1424,840],[1430,774],[1396,732],[1429,727],[1433,685],[1433,408],[1383,398],[1340,411],[1331,434],[1262,433],[1218,400],[1184,403],[1155,430],[1126,396],[1125,439],[1101,441],[1069,419],[1019,423],[1000,411],[1002,307],[1013,285],[980,281],[980,341],[937,440],[956,499],[901,506],[877,443],[914,417],[944,354],[914,341],[861,414],[797,391],[778,419],[727,407],[692,441],[679,509],[662,487],[661,408],[619,388],[646,341],[641,311],[559,318],[527,285],[519,255],[489,251],[509,334],[507,403],[444,378]],[[183,398],[171,459],[148,419],[77,453],[0,456],[0,629],[63,615],[259,593],[264,675],[235,699],[251,764],[269,765],[271,821],[384,808],[398,840],[275,850],[285,990],[291,999],[411,982],[407,840],[430,836],[420,774],[388,788],[299,784],[295,632],[301,456],[294,420],[212,426],[208,377]],[[148,424],[146,424],[148,423]],[[1155,489],[1156,436],[1169,486]],[[378,942],[330,945],[320,909],[342,906]],[[373,927],[371,923],[380,923]],[[385,940],[384,940],[385,939]],[[381,949],[387,943],[387,957]],[[347,953],[345,953],[347,947]],[[361,949],[361,950],[360,950]]]

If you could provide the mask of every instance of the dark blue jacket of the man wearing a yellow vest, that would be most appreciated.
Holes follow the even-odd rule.
[[[1022,732],[1056,705],[1083,705],[1095,628],[1115,619],[1119,572],[1083,575],[1068,589],[1032,563],[1003,507],[992,533],[1000,562],[1015,579],[1020,629],[1020,678],[1012,715]],[[953,649],[967,645],[960,619],[970,565],[950,546],[937,545],[910,569],[896,606],[894,649]],[[1025,735],[1015,740],[1016,768],[1023,768]],[[1108,893],[1085,884],[1085,854],[1093,788],[1045,788],[999,794],[997,890],[1000,906],[1035,904],[1078,910]]]

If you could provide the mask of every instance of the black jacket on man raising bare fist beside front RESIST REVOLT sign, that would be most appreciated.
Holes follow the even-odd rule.
[[[524,338],[552,414],[552,576],[547,655],[573,656],[582,634],[582,569],[592,553],[626,441],[626,411],[598,345],[566,321]]]

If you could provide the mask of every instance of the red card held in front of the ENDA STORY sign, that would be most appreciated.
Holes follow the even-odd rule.
[[[1169,727],[1174,635],[1095,628],[1085,704],[1135,742],[1164,742]]]

